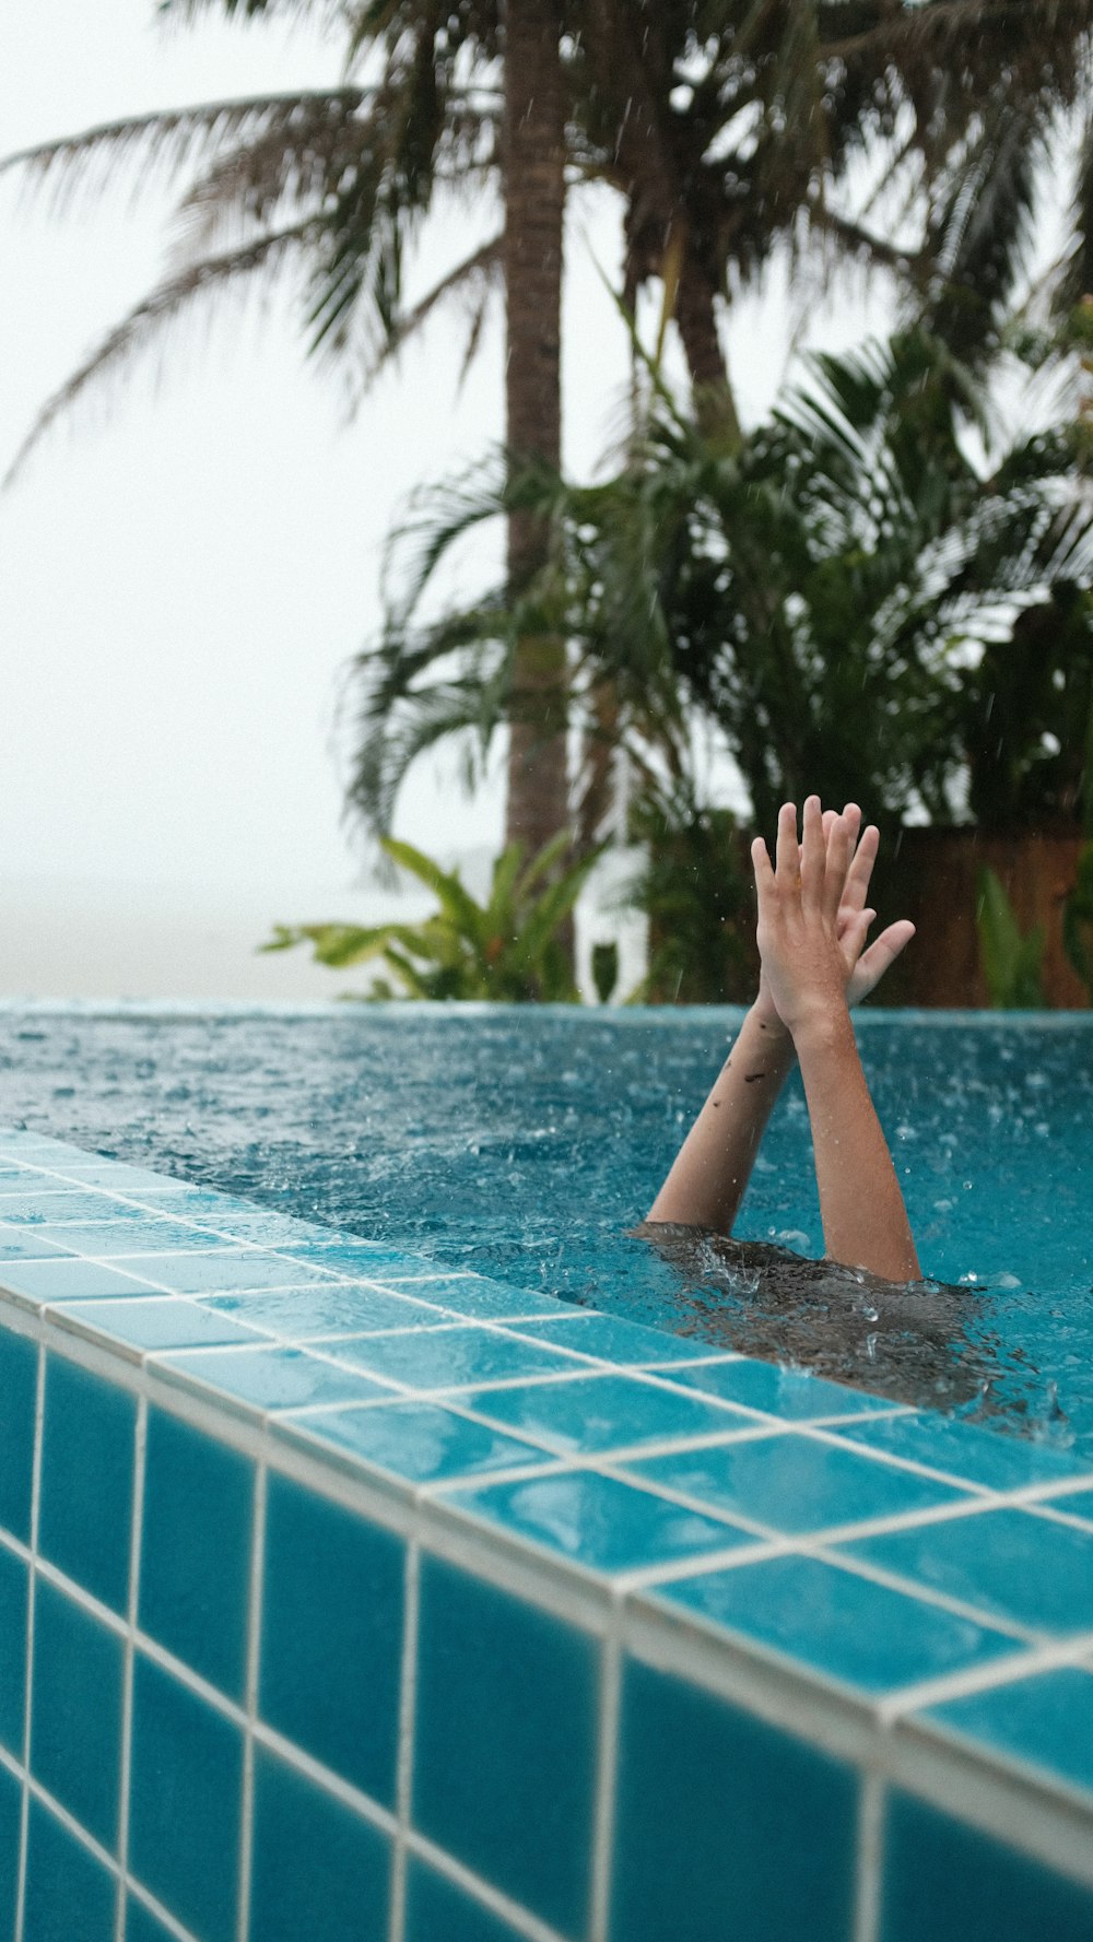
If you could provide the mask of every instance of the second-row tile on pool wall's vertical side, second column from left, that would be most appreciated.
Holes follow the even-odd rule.
[[[118,1635],[39,1577],[31,1773],[111,1851],[118,1833],[122,1660]]]

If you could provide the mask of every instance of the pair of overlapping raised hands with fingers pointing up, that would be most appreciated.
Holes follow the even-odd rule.
[[[862,829],[856,802],[837,816],[810,796],[802,825],[798,843],[796,804],[786,802],[775,864],[763,837],[751,845],[763,961],[755,1010],[765,1025],[792,1037],[866,998],[914,936],[903,919],[866,950],[879,831],[872,823]]]

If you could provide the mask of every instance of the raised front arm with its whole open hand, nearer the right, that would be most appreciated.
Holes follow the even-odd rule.
[[[804,806],[800,845],[796,808],[782,806],[775,866],[763,839],[755,839],[759,954],[800,1058],[827,1255],[911,1282],[920,1278],[918,1255],[846,1004],[839,903],[848,843],[843,818],[825,839],[817,796]]]

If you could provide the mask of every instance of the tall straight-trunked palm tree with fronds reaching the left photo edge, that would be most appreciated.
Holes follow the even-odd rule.
[[[212,4],[212,0],[206,0]],[[276,0],[221,0],[227,14],[266,16]],[[301,12],[297,0],[287,12]],[[194,16],[202,0],[161,0]],[[184,260],[126,317],[41,410],[19,452],[93,381],[124,367],[194,301],[223,295],[291,262],[307,272],[315,352],[349,353],[363,383],[456,289],[491,280],[507,291],[507,435],[522,458],[557,466],[561,223],[565,142],[561,0],[501,0],[447,14],[423,0],[371,0],[344,17],[348,72],[382,56],[375,85],[217,101],[113,122],[8,159],[39,179],[72,179],[99,161],[198,163],[182,196]],[[491,85],[503,66],[503,93]],[[501,165],[505,223],[414,311],[402,301],[404,258],[443,188],[474,192]],[[513,519],[513,588],[542,567],[544,528]],[[509,841],[534,851],[567,827],[565,643],[530,635],[514,668],[520,697],[509,759]]]

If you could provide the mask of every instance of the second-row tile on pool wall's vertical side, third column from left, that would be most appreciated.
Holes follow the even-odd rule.
[[[243,1740],[140,1653],[132,1691],[130,1872],[202,1942],[233,1942]]]

